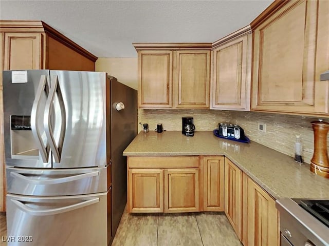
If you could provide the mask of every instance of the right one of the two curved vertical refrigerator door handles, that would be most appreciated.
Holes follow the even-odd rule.
[[[65,129],[66,129],[66,113],[65,113],[65,106],[64,106],[64,101],[63,101],[63,96],[60,90],[60,86],[58,83],[58,76],[53,75],[50,78],[50,83],[51,83],[51,88],[49,92],[48,99],[46,101],[46,106],[45,106],[45,114],[48,115],[48,118],[44,118],[44,127],[45,127],[45,132],[46,136],[49,140],[49,146],[52,151],[52,154],[54,156],[55,162],[60,162],[61,161],[61,149],[63,146],[64,142],[64,135],[65,135]],[[61,108],[61,130],[60,130],[60,137],[59,137],[59,145],[56,145],[56,141],[53,137],[53,132],[51,129],[51,107],[53,106],[53,99],[55,94],[57,93],[58,96],[58,101],[59,105]]]

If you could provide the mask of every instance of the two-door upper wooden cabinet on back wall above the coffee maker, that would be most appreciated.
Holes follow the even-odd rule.
[[[133,44],[138,107],[209,109],[211,44]]]

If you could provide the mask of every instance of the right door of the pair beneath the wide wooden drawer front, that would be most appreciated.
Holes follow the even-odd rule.
[[[199,169],[165,169],[165,212],[199,211]]]

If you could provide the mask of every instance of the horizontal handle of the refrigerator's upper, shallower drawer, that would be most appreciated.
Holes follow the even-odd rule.
[[[34,183],[35,185],[53,185],[55,183],[65,183],[65,182],[71,182],[71,181],[75,181],[75,180],[79,180],[79,179],[83,179],[83,178],[99,176],[99,172],[98,171],[89,172],[89,173],[83,173],[83,174],[78,174],[78,175],[64,177],[64,178],[52,178],[52,179],[44,179],[44,180],[29,178],[20,173],[16,173],[16,172],[11,172],[10,176],[12,176],[14,178],[24,179],[25,181],[28,181],[29,183]]]

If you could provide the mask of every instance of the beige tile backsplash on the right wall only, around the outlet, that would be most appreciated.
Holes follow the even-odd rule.
[[[295,155],[296,135],[300,135],[304,161],[310,163],[314,150],[313,129],[310,122],[319,118],[241,111],[230,111],[230,117],[231,122],[240,125],[251,140],[289,156]],[[329,121],[328,118],[324,120]],[[265,133],[258,131],[258,122],[266,124]],[[327,139],[329,141],[329,137]]]

